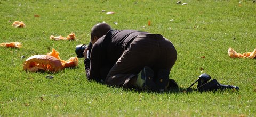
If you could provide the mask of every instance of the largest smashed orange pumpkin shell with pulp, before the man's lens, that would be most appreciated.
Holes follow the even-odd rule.
[[[78,66],[78,58],[71,57],[69,60],[61,60],[59,52],[52,49],[52,52],[47,55],[34,55],[29,57],[23,66],[23,70],[37,72],[37,71],[50,71],[57,72],[64,68],[73,68]]]

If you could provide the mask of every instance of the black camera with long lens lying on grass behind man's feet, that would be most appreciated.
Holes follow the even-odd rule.
[[[232,86],[232,85],[224,85],[220,84],[216,79],[213,79],[209,82],[211,79],[211,76],[204,73],[199,76],[199,78],[196,80],[198,82],[197,84],[197,90],[198,91],[212,91],[212,90],[217,90],[217,89],[236,89],[239,90],[238,86]],[[193,86],[196,82],[194,82],[191,86]],[[190,88],[189,87],[189,88]],[[188,89],[189,89],[188,88]]]

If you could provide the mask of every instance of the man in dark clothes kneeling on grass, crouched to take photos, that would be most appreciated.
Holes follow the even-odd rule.
[[[160,34],[113,30],[106,23],[91,30],[91,58],[84,51],[86,76],[109,86],[159,91],[169,85],[177,59],[173,44]]]

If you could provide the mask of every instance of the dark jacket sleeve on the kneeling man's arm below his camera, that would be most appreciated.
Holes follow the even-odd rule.
[[[91,50],[91,57],[90,59],[85,59],[85,72],[86,77],[89,80],[96,80],[100,81],[100,65],[101,65],[101,54],[100,54],[100,48],[98,45],[95,44]]]

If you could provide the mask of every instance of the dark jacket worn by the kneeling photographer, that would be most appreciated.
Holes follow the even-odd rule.
[[[149,34],[137,30],[109,30],[106,35],[103,35],[93,44],[91,52],[91,65],[90,76],[88,79],[105,80],[108,71],[121,57],[123,52],[129,47],[133,39],[138,35]],[[95,52],[94,52],[95,51]],[[101,66],[101,68],[99,68]]]

